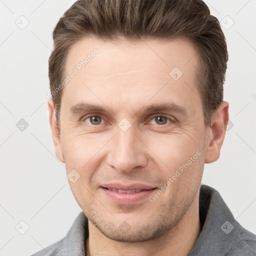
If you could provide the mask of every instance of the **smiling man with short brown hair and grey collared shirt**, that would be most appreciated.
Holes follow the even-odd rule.
[[[49,121],[82,212],[34,255],[256,255],[200,184],[228,122],[226,43],[205,3],[79,0],[53,39]]]

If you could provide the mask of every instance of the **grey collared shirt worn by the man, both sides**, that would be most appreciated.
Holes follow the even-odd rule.
[[[256,256],[256,235],[233,217],[214,188],[201,185],[199,195],[200,235],[188,256]],[[32,256],[84,256],[88,219],[75,218],[66,236]]]

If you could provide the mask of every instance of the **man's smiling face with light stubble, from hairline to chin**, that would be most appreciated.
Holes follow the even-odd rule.
[[[57,155],[71,180],[80,175],[71,190],[108,238],[155,238],[196,205],[205,158],[197,64],[184,39],[90,38],[70,48],[64,76],[74,67],[78,73],[63,89]]]

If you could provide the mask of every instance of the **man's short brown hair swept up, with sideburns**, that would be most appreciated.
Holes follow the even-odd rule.
[[[49,57],[50,91],[59,123],[65,61],[70,46],[81,38],[127,40],[185,37],[196,48],[196,72],[204,123],[223,100],[228,59],[219,21],[202,0],[78,0],[59,19],[53,30],[54,48]]]

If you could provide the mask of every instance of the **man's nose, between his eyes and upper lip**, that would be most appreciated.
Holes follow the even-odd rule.
[[[111,139],[107,164],[118,171],[129,172],[147,163],[146,146],[134,134],[132,126],[123,131],[117,127],[117,134]]]

